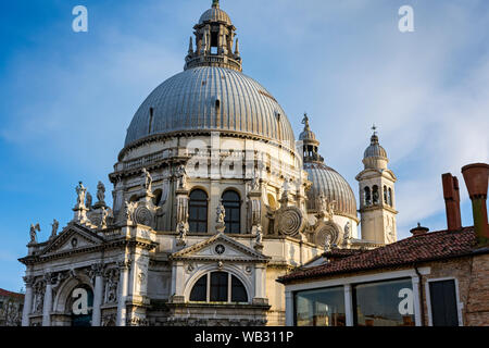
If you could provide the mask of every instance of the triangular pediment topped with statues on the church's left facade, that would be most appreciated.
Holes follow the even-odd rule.
[[[103,241],[104,239],[91,229],[76,223],[70,223],[46,246],[40,256],[92,248],[103,244]]]

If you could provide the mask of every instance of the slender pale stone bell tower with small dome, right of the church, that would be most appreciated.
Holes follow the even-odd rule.
[[[363,156],[364,170],[356,175],[360,188],[362,238],[377,244],[397,240],[396,175],[387,167],[389,159],[380,146],[376,126]]]

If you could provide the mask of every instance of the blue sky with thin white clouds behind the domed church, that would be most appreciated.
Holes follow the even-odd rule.
[[[72,9],[88,9],[88,33]],[[211,0],[17,0],[0,5],[0,287],[18,290],[28,227],[46,239],[73,216],[78,181],[111,185],[139,104],[180,72]],[[414,9],[414,33],[398,10]],[[486,0],[222,0],[238,29],[243,72],[280,102],[296,136],[304,111],[328,165],[354,176],[378,126],[398,176],[399,237],[416,222],[446,227],[440,175],[488,162]],[[111,196],[110,194],[108,195]]]

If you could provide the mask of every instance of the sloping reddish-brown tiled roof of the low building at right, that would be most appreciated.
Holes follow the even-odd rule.
[[[412,236],[373,250],[366,250],[327,264],[300,270],[279,277],[279,283],[330,276],[342,273],[397,268],[426,261],[451,259],[474,252],[474,227],[438,231]],[[489,248],[482,250],[489,252]]]

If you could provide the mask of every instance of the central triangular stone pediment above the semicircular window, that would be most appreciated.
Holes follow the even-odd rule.
[[[233,260],[246,262],[266,262],[271,259],[222,233],[174,252],[170,258],[172,260]]]

